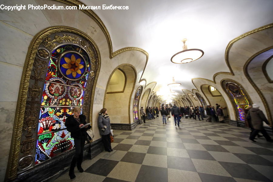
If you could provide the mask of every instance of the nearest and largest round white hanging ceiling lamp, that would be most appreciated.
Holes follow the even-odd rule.
[[[201,58],[204,55],[204,51],[201,49],[188,49],[187,45],[185,44],[187,39],[183,39],[183,51],[177,52],[174,56],[171,58],[171,62],[182,64],[182,63],[188,63],[195,61],[199,58]]]

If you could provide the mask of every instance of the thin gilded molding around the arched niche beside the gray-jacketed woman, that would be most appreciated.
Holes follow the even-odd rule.
[[[105,89],[105,93],[104,93],[104,99],[103,99],[103,108],[105,108],[105,101],[106,101],[106,94],[107,94],[107,89],[108,89],[108,85],[109,85],[109,82],[110,82],[110,79],[111,79],[111,77],[113,76],[113,74],[114,74],[114,72],[117,70],[117,69],[119,69],[120,67],[122,67],[122,66],[129,66],[129,67],[131,67],[132,69],[133,69],[133,72],[134,72],[134,76],[135,76],[135,79],[134,79],[134,83],[133,83],[133,88],[132,88],[132,91],[131,91],[131,94],[130,94],[130,99],[129,99],[129,108],[128,108],[128,114],[129,114],[129,123],[131,123],[131,113],[130,113],[130,108],[131,108],[131,99],[132,99],[132,95],[133,95],[133,92],[134,92],[134,88],[135,88],[135,86],[136,86],[136,77],[137,77],[137,74],[136,74],[136,69],[135,69],[135,67],[133,66],[133,65],[131,65],[131,64],[121,64],[121,65],[119,65],[119,66],[117,66],[113,71],[112,71],[112,73],[111,73],[111,75],[109,76],[109,79],[108,79],[108,81],[107,81],[107,85],[106,85],[106,89]],[[125,86],[126,87],[126,86]]]

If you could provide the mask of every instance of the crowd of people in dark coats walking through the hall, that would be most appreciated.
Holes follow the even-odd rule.
[[[175,126],[180,126],[181,117],[194,119],[198,117],[198,120],[205,120],[207,122],[220,122],[224,123],[224,113],[223,109],[226,107],[221,107],[219,104],[216,104],[216,106],[210,106],[207,105],[206,108],[201,106],[180,106],[177,107],[176,104],[172,107],[160,107],[159,109],[157,107],[147,107],[146,113],[144,112],[143,107],[141,107],[141,116],[143,116],[143,121],[145,123],[145,116],[147,115],[148,120],[155,119],[154,116],[158,117],[159,112],[162,116],[162,122],[163,124],[167,124],[167,120],[170,118],[170,115],[174,117],[174,123]],[[257,104],[253,104],[248,106],[245,110],[245,125],[246,127],[249,127],[251,129],[249,139],[253,142],[256,142],[255,139],[256,136],[259,138],[264,136],[265,139],[269,142],[272,142],[273,140],[268,135],[266,130],[263,127],[263,121],[269,125],[268,120],[266,119],[264,113],[259,110],[259,106]],[[205,115],[207,117],[205,117]],[[201,118],[201,119],[200,119]],[[167,119],[167,120],[166,120]],[[263,135],[260,135],[259,132],[261,132]]]

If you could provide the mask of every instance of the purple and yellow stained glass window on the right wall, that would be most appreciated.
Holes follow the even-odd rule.
[[[237,120],[244,121],[244,109],[251,104],[244,88],[233,80],[222,81],[222,87],[227,92],[227,95],[235,108]]]

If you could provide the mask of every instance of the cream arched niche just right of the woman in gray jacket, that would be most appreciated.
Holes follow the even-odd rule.
[[[123,92],[108,92],[109,83],[114,73],[119,70],[122,71],[126,78],[125,88]],[[122,76],[120,74],[120,76]],[[118,66],[111,73],[106,86],[106,93],[103,102],[103,107],[107,109],[111,123],[131,123],[131,98],[133,94],[133,88],[136,83],[136,70],[132,65],[124,64]],[[121,85],[123,85],[121,83]],[[132,114],[133,115],[133,114]]]

